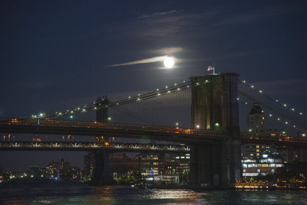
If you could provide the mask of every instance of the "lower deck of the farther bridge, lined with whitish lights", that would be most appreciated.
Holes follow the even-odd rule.
[[[182,145],[126,144],[114,142],[74,141],[0,141],[0,151],[109,151],[188,153]]]

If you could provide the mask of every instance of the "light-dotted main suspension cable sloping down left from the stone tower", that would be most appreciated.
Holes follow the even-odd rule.
[[[209,80],[201,80],[195,84],[192,84],[192,81],[184,81],[184,83],[176,84],[176,86],[171,86],[171,87],[165,87],[162,89],[157,89],[156,91],[152,91],[146,94],[142,95],[137,95],[134,97],[128,97],[128,99],[121,99],[118,101],[114,101],[106,105],[105,107],[114,107],[114,106],[119,106],[119,105],[125,105],[129,103],[134,103],[136,101],[141,101],[145,99],[150,99],[154,97],[159,97],[162,95],[166,95],[169,93],[172,93],[174,91],[181,91],[185,89],[189,89],[191,86],[199,86],[200,84],[203,83],[209,83]],[[48,118],[48,117],[60,117],[64,115],[70,115],[70,114],[77,114],[77,113],[84,113],[84,112],[89,112],[89,111],[95,111],[98,109],[102,109],[103,107],[96,107],[96,106],[90,106],[92,105],[91,103],[85,104],[83,108],[77,107],[75,109],[68,109],[65,112],[55,112],[53,114],[39,114],[39,115],[32,115],[31,118]]]

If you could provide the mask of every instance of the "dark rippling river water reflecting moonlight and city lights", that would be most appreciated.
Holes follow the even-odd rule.
[[[307,192],[91,187],[75,182],[2,184],[0,204],[307,204]]]

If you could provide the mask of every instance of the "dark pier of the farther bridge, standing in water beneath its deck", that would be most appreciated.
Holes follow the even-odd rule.
[[[90,185],[113,185],[109,169],[109,152],[95,152],[95,170]]]

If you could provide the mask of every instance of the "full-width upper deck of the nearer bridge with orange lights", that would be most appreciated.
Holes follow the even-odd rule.
[[[31,118],[0,118],[0,133],[64,134],[104,137],[141,138],[183,143],[219,143],[228,139],[223,132],[163,126],[103,123],[93,121],[50,120]],[[243,144],[274,143],[284,146],[307,147],[304,137],[252,135],[241,133],[233,137]]]

